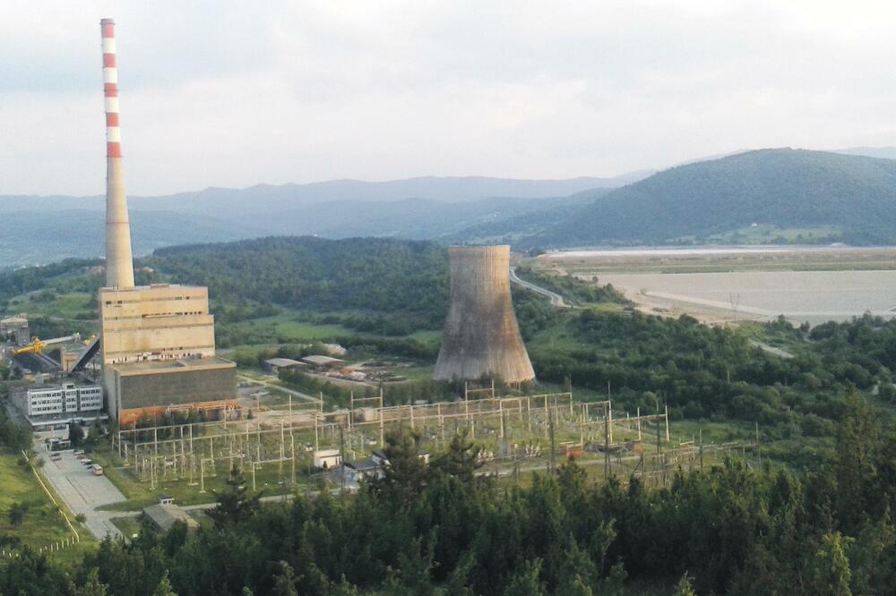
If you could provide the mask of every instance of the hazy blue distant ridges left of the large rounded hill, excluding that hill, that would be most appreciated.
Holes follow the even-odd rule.
[[[185,242],[267,235],[443,239],[468,227],[561,207],[565,195],[620,186],[643,175],[648,173],[570,180],[470,176],[260,184],[131,196],[128,204],[136,255]],[[100,256],[104,208],[102,196],[0,196],[9,229],[0,234],[0,268]]]

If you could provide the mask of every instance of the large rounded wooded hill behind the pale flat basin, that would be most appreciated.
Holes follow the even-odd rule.
[[[761,149],[674,167],[597,197],[525,243],[738,242],[751,226],[780,231],[778,241],[894,243],[896,160]]]

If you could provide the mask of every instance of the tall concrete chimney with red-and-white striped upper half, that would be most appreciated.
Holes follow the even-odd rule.
[[[115,21],[103,19],[99,21],[99,28],[103,38],[103,89],[106,96],[106,285],[134,287],[131,228],[121,171]]]

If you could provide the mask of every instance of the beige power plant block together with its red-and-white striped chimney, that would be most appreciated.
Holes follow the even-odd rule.
[[[236,365],[215,356],[208,289],[134,286],[122,175],[115,22],[100,21],[106,103],[106,287],[99,290],[103,387],[119,423],[144,413],[234,404]]]

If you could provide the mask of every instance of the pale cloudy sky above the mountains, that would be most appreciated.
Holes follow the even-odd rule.
[[[130,194],[896,144],[892,2],[3,0],[0,194],[103,192],[107,16]]]

